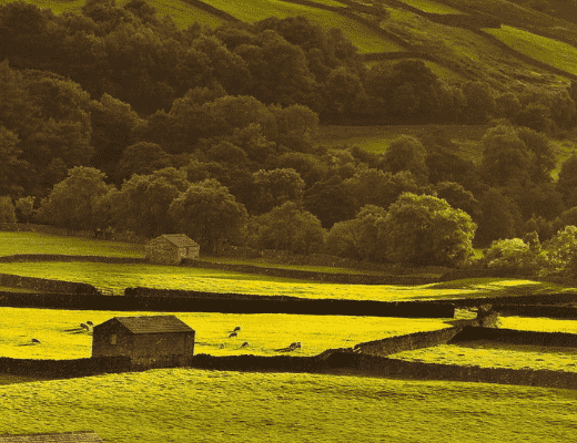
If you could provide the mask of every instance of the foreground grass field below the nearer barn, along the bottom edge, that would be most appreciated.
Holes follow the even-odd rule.
[[[301,373],[151,370],[0,398],[0,433],[90,429],[115,443],[569,442],[577,421],[573,390]]]

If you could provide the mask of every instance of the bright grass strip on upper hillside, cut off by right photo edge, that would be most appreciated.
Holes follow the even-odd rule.
[[[577,48],[517,28],[485,29],[510,48],[551,66],[577,74]]]

